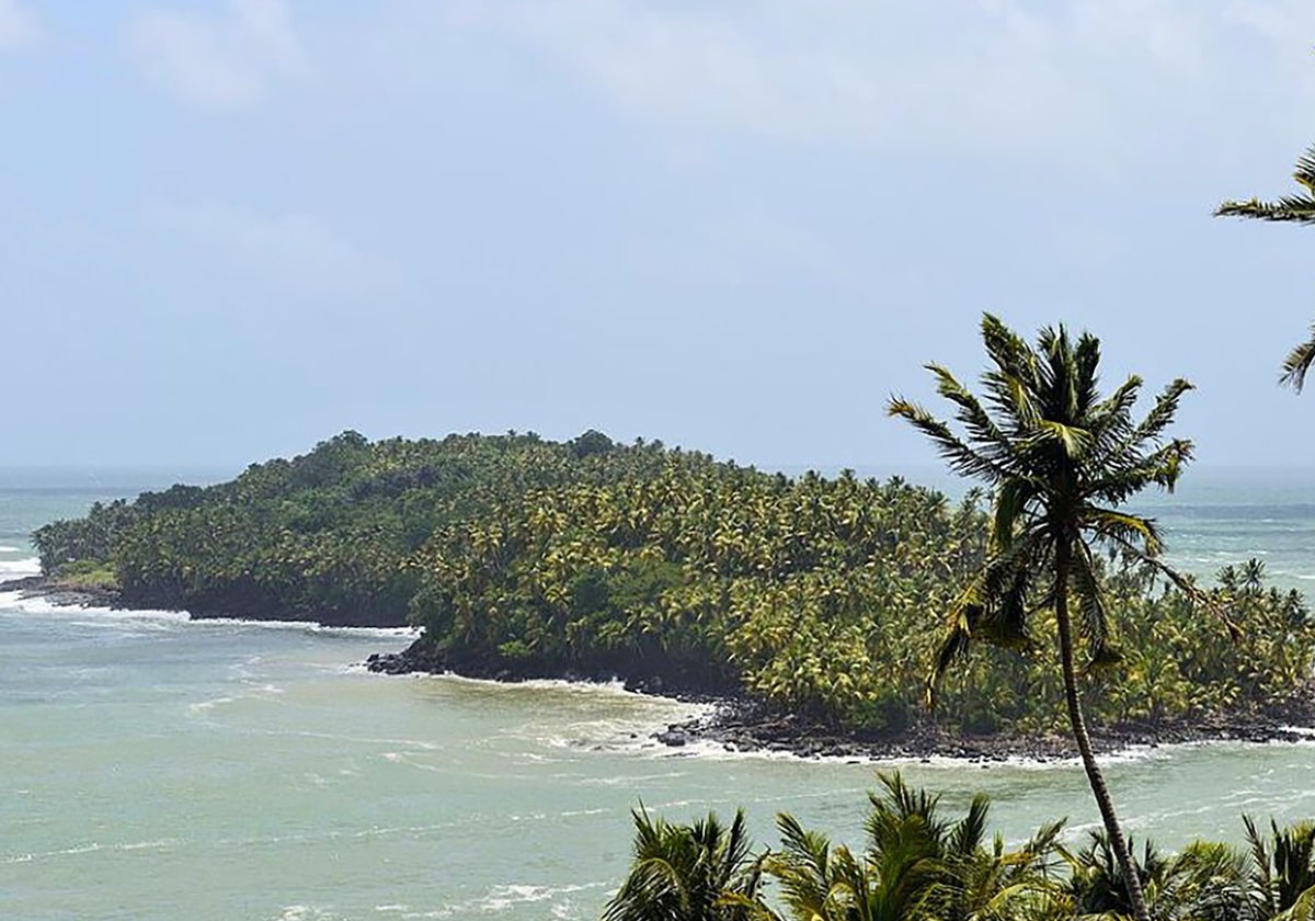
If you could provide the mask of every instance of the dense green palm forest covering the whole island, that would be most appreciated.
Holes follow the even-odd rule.
[[[113,571],[133,607],[410,617],[469,674],[743,687],[889,732],[926,718],[938,632],[985,532],[976,495],[792,479],[598,433],[346,433],[230,483],[93,508],[36,542],[47,572]],[[1102,567],[1120,657],[1084,684],[1095,722],[1272,705],[1302,687],[1315,629],[1299,596],[1266,588],[1258,566],[1226,576],[1211,592],[1236,642],[1149,571]],[[982,649],[947,679],[936,718],[984,733],[1061,725],[1053,629],[1041,620],[1027,647]]]

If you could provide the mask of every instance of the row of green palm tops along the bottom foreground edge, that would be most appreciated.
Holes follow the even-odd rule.
[[[777,817],[781,845],[753,853],[743,814],[690,825],[638,810],[634,859],[604,921],[1119,921],[1127,887],[1103,833],[1063,843],[1063,822],[1006,846],[990,804],[961,817],[938,797],[882,776],[865,841],[851,850]],[[1151,917],[1306,921],[1315,917],[1315,824],[1262,829],[1245,847],[1197,841],[1169,855],[1145,842],[1134,872]]]

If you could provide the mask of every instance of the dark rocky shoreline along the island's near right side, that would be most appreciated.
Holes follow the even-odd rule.
[[[488,671],[477,667],[462,667],[462,663],[447,660],[439,650],[423,639],[416,641],[401,653],[373,654],[367,659],[366,667],[370,671],[388,675],[458,674],[466,678],[502,682],[531,678],[567,680],[608,680],[613,678],[606,675],[512,674],[505,668]],[[639,679],[627,680],[626,689],[690,703],[714,704],[709,714],[671,724],[654,734],[658,742],[675,749],[694,743],[713,743],[727,751],[769,751],[801,758],[846,760],[957,758],[969,763],[1015,759],[1051,762],[1077,757],[1073,739],[1065,734],[970,735],[948,732],[927,721],[899,733],[863,734],[838,730],[834,726],[781,712],[763,701],[747,697],[734,688],[709,692],[707,688],[680,687],[669,682]],[[1298,726],[1315,728],[1315,687],[1307,687],[1307,692],[1299,699],[1276,704],[1264,713],[1239,712],[1208,714],[1195,720],[1127,724],[1098,729],[1093,733],[1091,741],[1098,751],[1106,754],[1189,742],[1315,741],[1315,732],[1294,729]]]

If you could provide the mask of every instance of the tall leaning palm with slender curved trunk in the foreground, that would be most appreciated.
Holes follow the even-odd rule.
[[[1097,764],[1078,693],[1076,641],[1088,659],[1111,658],[1107,610],[1093,547],[1107,545],[1157,567],[1176,584],[1190,583],[1157,559],[1155,524],[1118,507],[1148,485],[1173,488],[1191,457],[1190,442],[1164,441],[1178,399],[1191,388],[1170,383],[1141,421],[1132,408],[1141,379],[1132,376],[1109,396],[1097,391],[1099,341],[1077,342],[1063,326],[1041,330],[1036,349],[998,318],[982,317],[982,339],[994,368],[982,375],[985,401],[938,364],[928,364],[938,391],[955,404],[964,436],[907,400],[890,400],[892,416],[930,437],[949,467],[994,487],[986,560],[952,604],[948,630],[927,682],[927,701],[953,660],[973,641],[1030,642],[1028,626],[1053,612],[1068,717],[1091,792],[1139,921],[1147,904],[1114,803]],[[1070,610],[1070,600],[1076,604]]]

